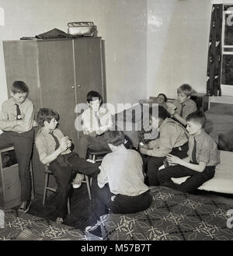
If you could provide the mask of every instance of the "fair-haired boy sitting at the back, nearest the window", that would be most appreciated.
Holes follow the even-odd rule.
[[[178,98],[173,103],[167,103],[167,110],[171,117],[186,125],[186,117],[196,111],[196,103],[190,99],[193,89],[188,84],[183,84],[177,89]],[[173,106],[172,106],[173,105]]]

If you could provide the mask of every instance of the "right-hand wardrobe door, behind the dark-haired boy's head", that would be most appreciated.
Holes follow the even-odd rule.
[[[86,103],[90,90],[105,98],[101,37],[74,40],[77,103]]]

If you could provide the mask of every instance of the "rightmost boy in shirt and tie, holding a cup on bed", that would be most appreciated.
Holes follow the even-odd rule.
[[[215,167],[220,162],[217,144],[204,132],[206,116],[196,111],[186,117],[187,131],[190,134],[188,157],[181,160],[178,156],[169,154],[167,160],[174,166],[162,169],[158,180],[162,186],[174,188],[183,192],[193,192],[204,182],[214,177]],[[190,176],[182,184],[175,184],[171,178]]]

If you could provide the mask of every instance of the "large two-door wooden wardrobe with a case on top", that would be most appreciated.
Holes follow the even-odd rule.
[[[98,91],[106,101],[102,38],[8,40],[3,41],[3,50],[8,90],[15,80],[26,82],[35,113],[40,107],[56,110],[60,114],[59,128],[77,146],[75,106],[86,103],[90,90]],[[35,146],[33,176],[36,195],[43,195],[43,165]]]

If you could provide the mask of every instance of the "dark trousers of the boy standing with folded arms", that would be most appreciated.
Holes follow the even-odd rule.
[[[0,135],[0,149],[14,146],[19,166],[21,201],[31,198],[30,158],[33,150],[34,130],[29,132],[3,132]]]

